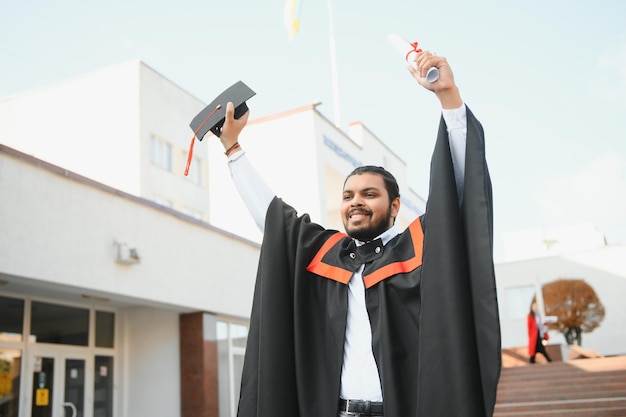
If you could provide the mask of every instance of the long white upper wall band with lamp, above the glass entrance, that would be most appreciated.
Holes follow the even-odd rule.
[[[1,274],[74,288],[78,301],[88,290],[248,317],[257,244],[51,169],[0,152]],[[115,241],[141,262],[116,263]]]

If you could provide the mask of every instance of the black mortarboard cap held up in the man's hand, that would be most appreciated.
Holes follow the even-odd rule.
[[[191,126],[198,140],[202,140],[209,130],[219,138],[226,118],[226,103],[229,101],[233,103],[235,106],[235,119],[239,119],[248,111],[246,100],[255,94],[243,81],[237,81],[198,113],[189,126]],[[221,107],[218,108],[218,106]]]

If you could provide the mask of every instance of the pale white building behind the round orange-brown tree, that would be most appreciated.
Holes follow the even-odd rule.
[[[528,343],[526,315],[539,288],[558,279],[582,279],[605,307],[600,326],[583,334],[583,348],[601,355],[626,354],[626,246],[606,245],[589,224],[520,231],[507,242],[511,260],[496,265],[504,348]],[[551,331],[550,343],[566,341]]]

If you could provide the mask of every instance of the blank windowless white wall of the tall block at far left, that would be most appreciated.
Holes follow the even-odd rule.
[[[139,63],[0,100],[0,143],[139,194]]]

